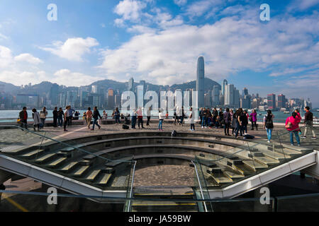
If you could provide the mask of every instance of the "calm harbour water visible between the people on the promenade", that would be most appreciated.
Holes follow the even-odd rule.
[[[84,112],[86,112],[86,110],[78,110],[76,109],[79,113],[80,116],[83,115]],[[0,110],[0,122],[4,122],[4,121],[15,121],[15,119],[18,118],[18,114],[19,114],[20,110]],[[47,117],[52,117],[52,110],[47,110],[48,115]],[[99,112],[102,116],[103,113],[103,109],[99,109]],[[111,118],[111,115],[113,113],[112,110],[106,110],[106,112],[108,113],[108,119]],[[123,112],[125,113],[125,112]],[[172,118],[174,112],[169,111],[169,114],[171,115],[170,118]],[[262,114],[262,115],[259,115]],[[259,119],[259,121],[262,121],[264,114],[267,114],[267,112],[257,112],[257,119]],[[273,112],[274,114],[274,121],[276,122],[284,122],[286,120],[286,118],[288,116],[290,116],[291,114],[284,114],[284,112]],[[302,117],[303,117],[304,112],[301,113]],[[157,118],[158,112],[157,111],[152,111],[152,115],[154,115]],[[32,112],[31,110],[28,110],[28,116],[32,117]],[[319,112],[317,111],[313,111],[313,116],[319,118]],[[8,119],[13,119],[13,120],[8,120]],[[81,118],[80,118],[81,119]]]

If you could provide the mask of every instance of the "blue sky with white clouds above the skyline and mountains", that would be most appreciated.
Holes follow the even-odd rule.
[[[217,82],[319,107],[318,11],[319,0],[1,0],[0,81],[172,85],[196,79],[202,55]]]

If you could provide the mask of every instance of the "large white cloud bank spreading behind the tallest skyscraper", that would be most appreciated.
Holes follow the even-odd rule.
[[[136,79],[146,77],[163,85],[195,79],[200,54],[205,57],[206,76],[214,80],[239,71],[265,71],[278,64],[307,67],[319,61],[319,44],[313,42],[313,35],[319,35],[318,15],[273,17],[264,24],[248,8],[241,16],[203,26],[181,24],[157,32],[140,28],[142,33],[129,42],[106,49],[99,67],[108,76],[133,73]]]

